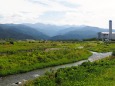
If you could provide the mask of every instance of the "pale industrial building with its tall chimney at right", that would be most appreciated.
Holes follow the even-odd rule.
[[[115,32],[112,32],[112,20],[109,21],[109,32],[99,32],[98,39],[102,39],[102,41],[115,40]]]

